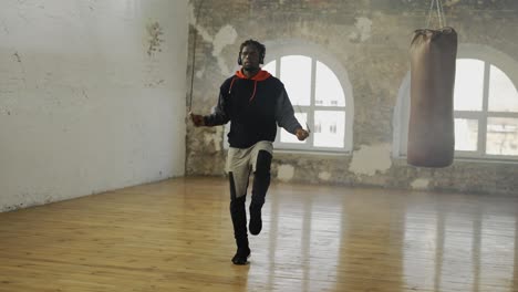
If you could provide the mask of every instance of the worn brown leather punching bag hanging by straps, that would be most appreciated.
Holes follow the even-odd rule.
[[[437,3],[441,29],[419,29],[411,43],[411,113],[407,163],[423,167],[446,167],[453,163],[455,132],[453,93],[457,58],[457,33],[444,27],[441,0]]]

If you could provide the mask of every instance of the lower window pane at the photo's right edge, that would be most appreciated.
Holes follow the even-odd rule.
[[[487,154],[518,155],[518,118],[487,119]]]

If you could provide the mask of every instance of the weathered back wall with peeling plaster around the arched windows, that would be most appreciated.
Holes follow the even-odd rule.
[[[459,43],[488,45],[518,61],[518,1],[443,2]],[[431,169],[393,158],[393,115],[410,70],[410,41],[413,31],[424,27],[429,1],[213,0],[205,1],[198,11],[195,4],[199,3],[189,2],[189,61],[197,38],[193,112],[210,112],[221,82],[231,74],[229,69],[236,69],[239,44],[249,38],[320,45],[348,71],[354,93],[353,152],[276,152],[274,179],[518,195],[516,163],[456,160],[450,167]],[[193,63],[188,74],[190,70]],[[217,145],[221,143],[220,127],[194,128],[189,123],[187,133],[187,174],[222,175],[226,153]]]

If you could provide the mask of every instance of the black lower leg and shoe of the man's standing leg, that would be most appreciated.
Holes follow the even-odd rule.
[[[230,216],[232,218],[234,237],[237,244],[237,252],[232,258],[234,264],[247,264],[247,259],[250,257],[245,200],[245,196],[230,200]]]

